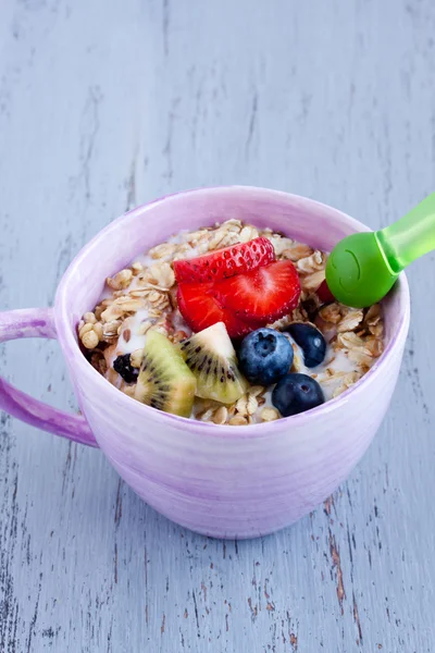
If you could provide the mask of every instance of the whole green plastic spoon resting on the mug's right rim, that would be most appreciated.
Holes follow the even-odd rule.
[[[385,297],[400,272],[432,249],[435,193],[390,226],[340,241],[327,260],[326,283],[341,304],[364,308]]]

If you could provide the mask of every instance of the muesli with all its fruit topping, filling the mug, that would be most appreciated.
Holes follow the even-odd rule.
[[[383,352],[381,306],[335,301],[326,260],[238,220],[182,232],[107,279],[78,338],[110,383],[157,409],[231,426],[295,415]]]

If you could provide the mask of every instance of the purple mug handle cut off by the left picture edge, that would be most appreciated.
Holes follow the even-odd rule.
[[[0,312],[0,343],[22,337],[55,338],[53,309],[25,308]],[[80,444],[98,447],[97,441],[82,415],[69,415],[34,399],[1,377],[0,409],[38,429]]]

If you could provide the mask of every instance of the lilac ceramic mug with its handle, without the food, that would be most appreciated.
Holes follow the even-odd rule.
[[[276,531],[324,501],[349,475],[387,410],[409,328],[401,274],[384,300],[384,354],[339,397],[306,414],[247,427],[161,412],[111,385],[86,360],[76,325],[107,276],[183,229],[238,218],[331,250],[360,222],[311,199],[250,187],[203,188],[139,207],[100,232],[71,263],[53,308],[0,313],[0,342],[57,338],[83,416],[57,410],[0,379],[0,408],[29,424],[98,446],[149,505],[194,531],[251,538]]]

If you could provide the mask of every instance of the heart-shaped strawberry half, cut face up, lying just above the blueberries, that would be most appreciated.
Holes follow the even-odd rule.
[[[300,282],[291,261],[277,261],[215,284],[222,305],[240,320],[268,324],[294,309]]]

